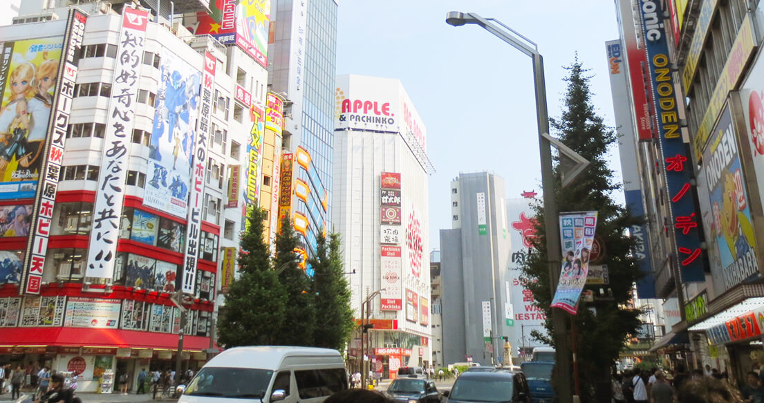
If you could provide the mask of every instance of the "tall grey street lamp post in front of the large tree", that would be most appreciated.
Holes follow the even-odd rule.
[[[552,295],[557,289],[560,275],[560,231],[557,202],[555,201],[555,178],[552,170],[552,142],[549,140],[549,115],[546,110],[546,86],[544,82],[544,61],[533,41],[517,33],[494,18],[482,18],[474,13],[450,11],[445,22],[459,27],[464,24],[478,24],[486,31],[507,42],[533,59],[533,81],[536,87],[536,116],[539,126],[539,154],[541,160],[541,180],[544,192],[544,226],[546,233],[547,263]],[[558,395],[561,403],[571,403],[573,393],[568,379],[571,374],[571,348],[566,331],[566,314],[552,309],[553,337],[555,339],[555,376],[558,379]]]

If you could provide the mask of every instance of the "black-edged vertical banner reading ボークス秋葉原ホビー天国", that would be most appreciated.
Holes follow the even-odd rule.
[[[87,15],[82,11],[69,11],[66,34],[63,37],[61,60],[58,63],[57,77],[60,78],[60,82],[51,104],[53,116],[47,121],[47,131],[45,132],[45,138],[48,141],[38,144],[38,147],[43,149],[40,150],[40,153],[47,158],[40,162],[42,165],[40,173],[44,173],[44,175],[39,176],[39,179],[42,180],[39,181],[35,192],[36,197],[31,220],[32,231],[27,241],[27,253],[25,255],[27,261],[24,265],[28,269],[21,271],[20,285],[23,286],[18,288],[20,293],[40,294],[45,253],[47,253],[48,237],[50,236],[50,224],[53,220],[53,204],[56,202],[63,146],[66,140],[66,130],[69,127],[70,112],[72,111],[74,83],[77,78],[79,51],[83,47],[86,21]],[[28,102],[29,105],[31,105],[31,100]],[[34,117],[34,112],[32,116]]]

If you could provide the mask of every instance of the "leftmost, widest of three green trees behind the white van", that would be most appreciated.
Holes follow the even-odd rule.
[[[249,227],[241,237],[238,279],[231,282],[220,310],[218,343],[222,346],[276,344],[286,311],[286,290],[270,267],[270,252],[263,238],[266,213],[253,208]]]

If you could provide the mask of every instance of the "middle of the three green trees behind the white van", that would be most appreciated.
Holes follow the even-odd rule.
[[[286,290],[286,308],[277,344],[284,346],[313,346],[313,330],[316,327],[315,292],[312,282],[299,268],[299,246],[292,221],[281,221],[281,232],[276,235],[276,259],[274,267],[281,285]]]

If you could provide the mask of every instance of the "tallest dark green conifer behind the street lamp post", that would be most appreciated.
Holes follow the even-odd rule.
[[[639,266],[630,250],[633,240],[626,236],[626,229],[639,224],[626,208],[617,205],[611,198],[620,184],[613,182],[613,172],[607,166],[608,148],[616,143],[617,134],[607,127],[595,113],[591,102],[591,90],[587,69],[575,60],[568,66],[569,76],[565,79],[568,88],[565,93],[565,110],[558,119],[550,119],[557,137],[576,153],[591,161],[591,166],[581,179],[562,189],[559,166],[555,167],[555,198],[559,211],[598,211],[596,234],[604,241],[607,251],[601,264],[607,265],[610,275],[612,298],[594,303],[579,302],[578,314],[568,315],[568,330],[575,327],[575,350],[578,357],[578,374],[582,401],[610,401],[610,369],[618,359],[627,337],[636,333],[639,327],[639,311],[626,308],[632,298],[632,284],[639,277]],[[546,314],[545,327],[552,334],[552,295],[550,292],[549,260],[559,260],[560,250],[552,250],[547,257],[547,238],[544,222],[544,208],[536,205],[536,250],[530,254],[523,267],[524,281],[533,291],[536,306]],[[556,218],[555,218],[556,219]],[[561,311],[562,312],[562,311]],[[555,340],[533,334],[546,343]],[[568,332],[570,334],[570,332]],[[571,343],[571,339],[559,340]],[[557,382],[572,382],[568,379],[553,379]]]

